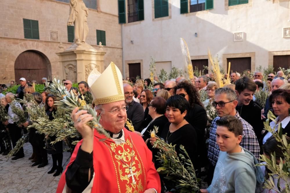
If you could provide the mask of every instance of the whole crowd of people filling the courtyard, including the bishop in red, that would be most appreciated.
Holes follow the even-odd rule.
[[[227,76],[228,74],[225,74],[224,78],[227,78]],[[269,157],[271,153],[276,152],[277,164],[280,157],[282,159],[284,157],[281,149],[279,149],[279,142],[273,138],[271,132],[264,130],[264,121],[267,119],[268,112],[273,112],[276,115],[276,123],[271,122],[271,128],[278,130],[278,125],[281,123],[282,133],[287,134],[288,137],[290,136],[290,84],[282,71],[279,71],[276,75],[268,74],[267,81],[264,81],[263,73],[259,71],[255,72],[253,77],[241,76],[238,72],[233,72],[229,76],[231,77],[231,84],[222,88],[218,88],[212,73],[194,77],[190,81],[184,77],[176,77],[176,79],[166,80],[164,83],[159,82],[158,77],[154,80],[135,80],[135,78],[127,77],[123,80],[123,84],[119,83],[124,92],[120,94],[118,91],[118,94],[110,95],[123,95],[111,102],[112,104],[116,103],[115,106],[104,110],[106,105],[111,103],[95,102],[95,110],[101,116],[100,123],[110,132],[113,141],[116,144],[130,143],[132,157],[127,155],[127,159],[133,160],[133,146],[140,143],[137,142],[139,138],[135,139],[135,135],[136,137],[142,137],[144,142],[148,141],[145,145],[146,150],[140,150],[134,146],[136,148],[134,152],[139,150],[140,154],[147,155],[148,163],[146,161],[146,164],[148,166],[146,167],[149,169],[147,170],[144,167],[144,170],[150,171],[147,173],[147,177],[149,179],[160,177],[161,183],[159,179],[153,180],[153,186],[148,185],[150,183],[147,182],[147,188],[142,189],[143,192],[145,190],[148,190],[148,192],[175,190],[174,183],[170,179],[162,174],[159,176],[155,174],[156,169],[160,167],[160,163],[156,159],[158,150],[153,147],[158,138],[163,139],[168,144],[176,145],[177,155],[182,154],[180,145],[184,146],[196,170],[197,177],[207,176],[204,181],[207,182],[209,187],[201,189],[201,192],[271,192],[271,190],[262,188],[264,177],[269,178],[269,170],[265,167],[255,166],[255,164],[258,163],[260,154]],[[45,82],[47,82],[46,78],[43,79],[43,83]],[[97,90],[97,87],[94,87],[96,90],[93,90],[93,84],[89,86],[86,81],[79,82],[78,88],[73,88],[70,80],[63,80],[63,83],[68,91],[74,90],[79,98],[86,92],[92,92],[94,101],[98,101],[95,99],[98,94],[95,93],[103,92],[103,90]],[[115,83],[117,84],[116,80]],[[56,101],[54,95],[45,90],[42,93],[35,92],[33,86],[26,83],[25,78],[19,79],[19,84],[15,94],[1,95],[2,89],[0,88],[0,104],[5,108],[9,117],[7,121],[0,123],[0,153],[3,155],[7,155],[15,147],[17,140],[21,138],[21,131],[27,132],[26,128],[30,125],[29,114],[26,115],[27,121],[25,123],[22,125],[16,124],[19,118],[17,118],[13,108],[25,111],[26,106],[14,98],[23,99],[23,96],[32,94],[39,106],[44,106],[50,120],[54,119],[53,114],[57,110],[56,105],[54,105]],[[264,108],[255,101],[255,92],[258,90],[267,90],[271,93]],[[207,99],[204,101],[201,101],[201,92],[207,94]],[[209,111],[216,113],[216,117],[211,121],[209,121]],[[105,116],[110,116],[110,119],[105,118]],[[126,117],[126,121],[129,119],[134,126],[134,135],[128,134],[130,131],[128,131],[127,125],[122,122],[125,119],[124,117]],[[88,126],[85,126],[91,120],[87,112],[77,112],[77,109],[75,109],[72,112],[72,118],[83,140],[81,145],[76,146],[72,154],[72,160],[65,174],[63,174],[64,177],[61,181],[66,181],[67,187],[60,185],[59,188],[62,190],[66,187],[77,190],[77,192],[82,192],[88,187],[94,190],[96,188],[94,186],[100,185],[102,175],[108,179],[110,178],[110,176],[104,174],[105,171],[98,168],[99,161],[95,161],[95,153],[98,151],[94,149],[95,143],[99,144],[101,142],[92,141],[101,139],[101,137],[93,131],[89,131]],[[106,128],[106,124],[112,128],[118,128],[117,131]],[[121,129],[116,126],[118,124],[123,124]],[[125,131],[122,129],[124,126],[127,128]],[[152,137],[150,131],[154,129],[154,126],[158,127],[158,133],[157,136]],[[92,138],[92,136],[96,138]],[[124,137],[127,140],[122,139]],[[289,143],[290,138],[288,137],[286,139]],[[44,134],[39,134],[36,130],[30,128],[29,142],[32,145],[33,154],[29,159],[34,162],[31,165],[32,167],[36,165],[44,167],[48,164],[47,154],[51,154],[53,165],[48,173],[53,173],[56,170],[54,176],[58,176],[63,172],[63,143],[57,142],[52,145],[50,141],[55,141],[55,138],[56,136],[44,136]],[[118,142],[118,140],[123,140],[123,142]],[[93,143],[94,145],[92,145]],[[143,147],[144,144],[140,146]],[[98,147],[101,148],[100,152],[108,148],[112,159],[115,155],[117,157],[116,151],[113,151],[112,148],[117,149],[118,146],[108,146],[106,142],[99,145],[104,145],[104,147]],[[148,153],[151,155],[148,155]],[[142,155],[136,153],[134,155],[136,156],[136,162],[141,164],[141,160],[144,161]],[[23,157],[24,152],[21,148],[12,160]],[[121,159],[121,156],[118,159]],[[124,159],[126,159],[126,156]],[[149,166],[150,159],[153,160],[153,166]],[[128,164],[122,159],[121,161],[122,165]],[[115,164],[114,161],[113,163]],[[112,167],[116,167],[116,165]],[[132,168],[129,164],[126,173],[128,173],[128,181],[132,180],[134,184],[138,177],[135,176],[134,178],[134,174],[137,175],[137,170]],[[135,173],[132,173],[131,170]],[[133,177],[130,178],[129,174]],[[98,175],[101,175],[101,177]],[[141,174],[138,175],[142,176]],[[97,182],[97,179],[100,182]],[[122,187],[122,181],[116,183]],[[285,181],[279,181],[279,183],[281,187],[285,187]],[[118,188],[120,190],[120,187]],[[105,188],[102,190],[115,189]]]

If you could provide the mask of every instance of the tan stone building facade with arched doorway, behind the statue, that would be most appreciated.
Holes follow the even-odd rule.
[[[103,43],[102,47],[106,52],[104,67],[113,61],[122,72],[122,32],[118,22],[117,3],[106,0],[95,1],[84,0],[89,9],[89,32],[86,42],[98,49],[96,30],[105,31],[106,43],[105,45]],[[53,77],[67,79],[68,74],[62,69],[59,57],[55,54],[60,49],[60,43],[64,50],[72,44],[68,42],[67,21],[70,6],[67,2],[69,1],[1,1],[0,83],[10,83],[11,80],[15,80],[15,76],[32,81],[32,77],[37,77],[35,74],[38,74],[37,81],[40,81],[39,77],[43,76],[42,74],[44,76],[47,74],[49,79]],[[38,21],[39,39],[24,37],[23,19]],[[33,63],[36,61],[39,63]]]

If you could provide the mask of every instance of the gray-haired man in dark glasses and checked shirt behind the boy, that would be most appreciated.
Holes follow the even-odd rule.
[[[209,133],[209,149],[208,149],[208,158],[210,161],[210,168],[208,174],[209,181],[211,181],[213,177],[214,168],[218,161],[218,155],[220,152],[220,148],[216,143],[216,129],[217,129],[216,121],[223,116],[232,115],[235,116],[235,118],[240,119],[243,125],[243,138],[240,143],[240,146],[249,150],[252,154],[254,154],[254,156],[257,159],[260,158],[260,146],[256,134],[253,130],[253,127],[242,117],[240,117],[239,113],[236,111],[238,101],[235,91],[232,90],[231,88],[226,87],[218,88],[217,90],[215,90],[215,99],[212,105],[213,107],[215,107],[218,116],[215,117],[215,119],[213,119]]]

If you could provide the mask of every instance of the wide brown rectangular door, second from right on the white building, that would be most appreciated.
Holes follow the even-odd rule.
[[[227,58],[226,73],[228,72],[229,62],[231,62],[231,72],[239,72],[241,75],[244,70],[251,70],[251,57],[244,58]]]

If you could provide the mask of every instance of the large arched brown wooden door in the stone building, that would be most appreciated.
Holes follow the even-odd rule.
[[[15,80],[24,77],[26,81],[36,80],[41,83],[43,77],[48,78],[48,65],[48,61],[40,53],[33,50],[22,52],[15,60]]]

